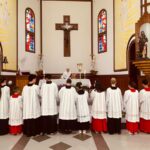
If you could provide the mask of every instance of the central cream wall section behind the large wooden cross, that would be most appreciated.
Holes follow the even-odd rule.
[[[62,73],[67,67],[77,71],[77,63],[83,63],[83,70],[90,70],[91,54],[91,3],[73,1],[43,1],[42,43],[44,70]],[[64,57],[61,30],[55,30],[56,23],[63,23],[63,15],[70,15],[71,23],[78,23],[78,30],[71,31],[71,57]]]

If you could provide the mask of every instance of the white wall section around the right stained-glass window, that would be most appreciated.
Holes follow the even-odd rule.
[[[107,52],[98,54],[97,48],[97,16],[101,9],[107,11]],[[128,71],[114,72],[114,43],[113,43],[113,0],[93,0],[93,50],[96,56],[98,74],[127,74]]]

